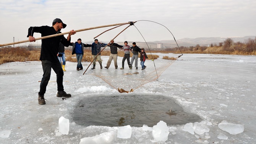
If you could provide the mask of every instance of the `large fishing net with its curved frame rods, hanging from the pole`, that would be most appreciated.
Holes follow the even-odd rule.
[[[153,21],[151,21],[151,22],[153,22]],[[130,22],[130,26],[134,26],[134,23],[135,22]],[[156,22],[154,22],[154,23],[156,23]],[[157,23],[157,24],[159,24],[159,23]],[[160,24],[160,25],[162,25],[162,24]],[[164,26],[164,25],[162,25],[162,26]],[[119,26],[117,26],[117,27],[119,27]],[[117,28],[117,27],[115,27],[115,28]],[[125,29],[127,29],[128,27],[129,26],[127,26]],[[135,26],[135,28],[136,28],[136,26]],[[114,28],[112,28],[112,29],[114,29]],[[111,30],[111,29],[109,29],[109,30]],[[107,30],[107,31],[109,31],[109,30]],[[167,29],[167,30],[169,31],[169,29]],[[123,32],[123,31],[121,31],[121,32]],[[103,33],[104,32],[102,32],[101,34],[103,34]],[[172,34],[172,32],[170,32],[170,33]],[[98,36],[96,36],[96,37],[98,37]],[[142,34],[141,34],[141,36],[142,36]],[[96,37],[94,37],[94,39]],[[173,36],[173,38],[174,38],[174,36]],[[144,39],[144,37],[143,37],[143,39]],[[175,38],[174,38],[174,40],[175,40]],[[145,42],[146,42],[146,40],[145,40]],[[176,42],[176,40],[175,40],[175,42]],[[146,42],[146,44],[147,44],[147,42]],[[177,44],[177,42],[176,42],[176,44]],[[177,44],[177,47],[178,47],[178,44]],[[158,55],[159,58],[154,58],[148,45],[147,45],[147,48],[144,48],[144,49],[145,49],[145,52],[147,53],[148,59],[149,59],[149,60],[145,61],[144,69],[140,66],[140,58],[138,58],[138,70],[136,69],[136,66],[134,66],[134,64],[136,63],[135,62],[136,60],[134,61],[134,63],[132,60],[131,64],[129,65],[130,56],[128,53],[125,53],[123,57],[118,57],[118,60],[117,60],[118,66],[120,67],[122,65],[121,70],[119,68],[116,69],[115,66],[110,66],[107,70],[104,68],[103,69],[88,69],[90,66],[89,65],[88,68],[86,69],[86,71],[84,72],[84,74],[91,74],[91,75],[94,75],[94,76],[97,76],[97,77],[103,79],[106,83],[108,83],[113,88],[117,89],[119,92],[133,92],[135,89],[138,89],[139,87],[143,86],[146,83],[158,80],[159,76],[170,65],[172,65],[172,63],[175,60],[177,60],[182,55],[182,53],[181,53],[181,55],[173,54],[173,57],[169,58],[169,56],[165,56],[165,59],[163,59],[163,55],[161,55],[159,53],[159,55]],[[178,47],[178,49],[179,49],[179,47]],[[113,61],[112,61],[112,63],[113,63]],[[107,65],[107,60],[102,61],[102,65],[103,66]]]

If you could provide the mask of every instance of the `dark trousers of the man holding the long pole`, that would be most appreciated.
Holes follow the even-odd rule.
[[[56,73],[57,76],[57,89],[58,91],[64,91],[64,87],[63,87],[63,70],[62,67],[60,65],[60,63],[58,61],[56,62],[52,62],[49,60],[41,60],[42,61],[42,67],[43,67],[43,78],[41,80],[40,83],[40,91],[38,92],[38,94],[40,95],[44,95],[45,91],[46,91],[46,86],[50,80],[50,76],[51,76],[51,70],[53,69],[53,71]]]

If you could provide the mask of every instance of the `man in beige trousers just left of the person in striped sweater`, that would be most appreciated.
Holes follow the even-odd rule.
[[[111,40],[108,46],[110,47],[110,55],[109,55],[109,60],[107,61],[107,66],[105,66],[105,68],[108,69],[111,64],[111,61],[114,59],[115,69],[117,69],[118,67],[117,66],[117,47],[119,47],[120,49],[123,46],[114,43],[114,40]]]

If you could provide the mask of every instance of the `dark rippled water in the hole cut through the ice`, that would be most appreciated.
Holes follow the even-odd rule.
[[[172,98],[161,95],[86,97],[75,106],[72,117],[84,126],[154,126],[160,120],[170,126],[201,121],[198,115],[184,112]]]

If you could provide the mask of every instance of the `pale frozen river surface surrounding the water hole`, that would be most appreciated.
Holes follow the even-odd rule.
[[[105,66],[108,57],[102,59]],[[121,61],[118,57],[120,67]],[[83,63],[84,68],[88,64]],[[96,70],[99,67],[96,66]],[[83,138],[96,144],[99,141],[111,144],[256,143],[255,56],[184,54],[162,73],[159,81],[128,94],[119,93],[96,76],[83,75],[83,71],[76,71],[76,63],[67,62],[63,85],[72,97],[64,100],[56,97],[56,76],[52,72],[50,81],[53,82],[49,82],[45,93],[46,105],[37,102],[41,78],[40,61],[0,65],[1,144],[79,144]],[[159,95],[172,98],[185,112],[200,116],[202,121],[167,125],[170,133],[163,142],[154,139],[152,127],[132,126],[131,137],[123,139],[117,137],[118,126],[86,126],[74,120],[74,110],[81,100],[134,95],[156,96],[156,101]],[[68,134],[58,132],[61,116],[70,121]],[[231,125],[223,128],[225,123]],[[241,129],[233,129],[236,125],[242,125],[243,131],[237,134]],[[190,128],[192,131],[188,131]]]

